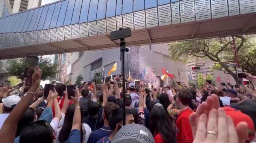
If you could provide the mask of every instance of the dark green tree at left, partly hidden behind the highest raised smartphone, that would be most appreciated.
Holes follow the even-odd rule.
[[[16,76],[19,79],[24,78],[24,67],[26,58],[12,59],[9,61],[9,65],[6,69],[7,76]],[[38,63],[42,70],[42,80],[52,80],[55,78],[57,71],[57,64],[52,63],[50,58],[43,58]]]

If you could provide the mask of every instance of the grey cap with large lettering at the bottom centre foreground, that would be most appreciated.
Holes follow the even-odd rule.
[[[114,136],[111,143],[154,143],[151,132],[142,125],[128,124],[123,126]]]

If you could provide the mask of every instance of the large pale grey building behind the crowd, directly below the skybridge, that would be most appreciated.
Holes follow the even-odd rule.
[[[148,73],[147,76],[161,76],[162,68],[165,68],[178,80],[178,65],[183,71],[186,71],[187,66],[181,60],[171,61],[167,48],[167,43],[129,47],[130,51],[125,53],[125,75],[128,76],[130,71],[132,78],[139,78],[140,73],[146,67],[154,71],[154,73]],[[104,72],[103,77],[108,76],[108,71],[116,62],[117,70],[112,72],[112,75],[121,75],[120,55],[120,48],[70,53],[67,56],[67,80],[75,83],[77,76],[81,74],[83,81],[89,81],[96,72]],[[185,72],[180,73],[180,81],[187,85]],[[164,82],[167,84],[167,80]]]

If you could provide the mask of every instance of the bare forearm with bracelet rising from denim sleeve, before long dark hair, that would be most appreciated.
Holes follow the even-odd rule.
[[[72,100],[75,102],[75,113],[73,117],[73,123],[72,123],[72,129],[71,130],[79,130],[81,128],[81,112],[80,112],[80,105],[78,101],[78,97],[80,95],[78,88],[76,88],[75,91],[75,97],[72,97]]]

